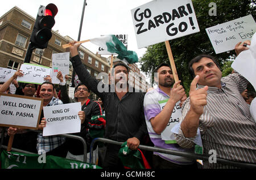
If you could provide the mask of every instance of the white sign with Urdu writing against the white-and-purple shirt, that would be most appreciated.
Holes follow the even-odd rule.
[[[163,100],[159,102],[160,107],[164,108],[164,106],[166,105],[168,100]],[[175,136],[174,134],[171,133],[171,129],[177,125],[180,121],[180,117],[181,117],[181,107],[179,106],[180,101],[176,103],[176,105],[174,106],[174,110],[172,111],[172,115],[171,118],[168,122],[168,125],[166,126],[166,128],[164,129],[164,131],[161,134],[161,137],[163,140],[175,140]]]

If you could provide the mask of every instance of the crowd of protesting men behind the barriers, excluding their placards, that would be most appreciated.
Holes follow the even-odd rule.
[[[250,41],[236,45],[237,55],[247,49],[243,43],[250,44]],[[43,106],[81,102],[81,110],[77,114],[81,121],[81,130],[73,135],[86,140],[88,152],[93,138],[107,138],[125,142],[131,152],[135,152],[139,145],[181,152],[195,152],[197,146],[205,154],[214,149],[217,157],[255,164],[255,121],[249,111],[255,94],[247,92],[248,81],[236,71],[221,78],[221,71],[214,57],[199,55],[193,58],[188,67],[193,81],[187,97],[181,82],[174,83],[171,67],[167,63],[156,68],[154,79],[158,87],[148,89],[147,92],[129,89],[129,68],[125,63],[117,63],[113,66],[109,84],[102,84],[109,91],[101,92],[98,91],[99,81],[90,76],[81,64],[77,51],[80,43],[72,41],[71,44],[71,62],[80,80],[76,85],[74,98],[68,96],[67,84],[61,72],[57,74],[57,79],[60,80],[59,92],[56,92],[50,76],[44,78],[46,81],[40,85],[18,83],[16,78],[23,76],[21,70],[16,71],[5,83],[1,83],[0,92],[9,93],[9,86],[13,83],[16,95],[40,97],[43,99]],[[112,82],[114,92],[110,91]],[[90,91],[101,98],[100,103],[89,99]],[[241,110],[237,110],[238,107]],[[179,117],[172,116],[179,109]],[[67,117],[46,119],[42,109],[38,129],[43,130],[49,122],[71,119]],[[161,134],[169,125],[172,130],[167,133],[171,134],[172,140],[167,143]],[[25,128],[1,127],[1,131],[3,130],[6,131],[1,137],[4,145],[14,135],[13,148],[82,161],[83,147],[77,140],[57,135],[43,136],[42,132]],[[124,161],[119,155],[122,147],[123,145],[108,143],[94,147],[93,153],[98,157],[97,165],[102,168],[123,169]],[[199,163],[192,158],[166,153],[143,152],[152,169],[238,168],[216,162]],[[129,160],[125,160],[125,163],[129,164]]]

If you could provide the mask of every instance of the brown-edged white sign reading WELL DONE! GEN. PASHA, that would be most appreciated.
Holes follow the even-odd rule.
[[[0,126],[38,129],[42,98],[0,93]]]

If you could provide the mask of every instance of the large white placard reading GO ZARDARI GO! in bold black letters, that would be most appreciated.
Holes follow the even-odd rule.
[[[199,32],[191,0],[154,0],[131,10],[138,48]]]

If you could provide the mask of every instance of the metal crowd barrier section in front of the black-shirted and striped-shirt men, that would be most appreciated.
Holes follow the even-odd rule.
[[[93,146],[97,142],[110,143],[110,144],[115,144],[115,145],[122,145],[124,143],[124,142],[116,142],[114,140],[105,139],[105,138],[95,138],[95,139],[93,139],[92,143],[90,144],[90,161],[89,161],[89,163],[92,163]],[[171,150],[171,149],[150,147],[150,146],[147,146],[147,145],[139,145],[138,148],[146,150],[146,151],[161,152],[161,153],[166,153],[166,154],[170,154],[170,155],[193,158],[193,159],[196,159],[196,160],[206,160],[206,161],[208,161],[209,157],[210,157],[210,156],[205,156],[205,155],[199,155],[199,154],[196,154],[196,153],[180,152],[180,151],[175,151],[175,150]],[[256,164],[229,161],[229,160],[225,160],[225,159],[222,159],[222,158],[216,158],[216,162],[221,163],[221,164],[233,165],[233,166],[237,166],[237,167],[240,167],[240,168],[254,168],[254,169],[256,168]]]

